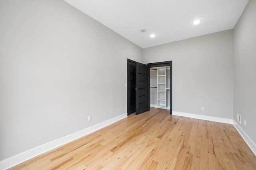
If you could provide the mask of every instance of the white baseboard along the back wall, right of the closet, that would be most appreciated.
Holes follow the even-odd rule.
[[[208,121],[216,121],[216,122],[220,122],[220,123],[233,124],[233,119],[227,119],[227,118],[222,118],[222,117],[197,115],[197,114],[192,114],[192,113],[183,113],[183,112],[179,112],[179,111],[172,111],[172,115],[190,117],[190,118],[194,118],[194,119],[202,119],[202,120],[208,120]]]

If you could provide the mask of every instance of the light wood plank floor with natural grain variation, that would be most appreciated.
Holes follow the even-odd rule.
[[[151,108],[11,169],[256,170],[256,156],[233,125]]]

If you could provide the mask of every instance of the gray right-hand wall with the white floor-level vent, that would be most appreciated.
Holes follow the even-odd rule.
[[[242,118],[238,123],[236,114]],[[246,126],[244,126],[246,120]],[[234,27],[234,121],[256,143],[256,1],[250,0]]]

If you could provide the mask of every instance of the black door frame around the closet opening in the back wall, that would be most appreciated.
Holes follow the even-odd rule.
[[[172,115],[172,61],[149,63],[148,69],[150,69],[150,67],[160,67],[160,66],[170,66],[170,114]],[[149,82],[150,81],[148,81],[148,83]]]

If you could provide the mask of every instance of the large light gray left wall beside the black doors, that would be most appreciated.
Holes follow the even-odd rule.
[[[127,112],[140,47],[62,0],[1,0],[0,25],[0,160]]]

